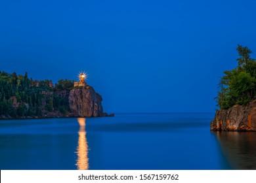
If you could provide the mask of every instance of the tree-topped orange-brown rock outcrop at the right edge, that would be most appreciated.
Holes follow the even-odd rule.
[[[238,67],[224,71],[212,131],[256,131],[256,61],[238,44]]]

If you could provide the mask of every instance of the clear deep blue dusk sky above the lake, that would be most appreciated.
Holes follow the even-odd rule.
[[[215,112],[237,44],[256,52],[255,7],[255,0],[1,1],[0,70],[53,82],[86,71],[106,112]]]

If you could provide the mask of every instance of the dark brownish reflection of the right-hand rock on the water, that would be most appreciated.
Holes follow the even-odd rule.
[[[233,169],[256,169],[256,133],[217,131],[224,156]]]

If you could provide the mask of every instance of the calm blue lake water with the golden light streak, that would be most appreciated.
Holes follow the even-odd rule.
[[[213,113],[0,120],[0,169],[256,169],[256,133]]]

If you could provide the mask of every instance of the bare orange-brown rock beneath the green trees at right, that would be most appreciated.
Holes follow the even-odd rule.
[[[212,131],[256,131],[256,100],[246,107],[234,105],[219,110],[211,121]]]

